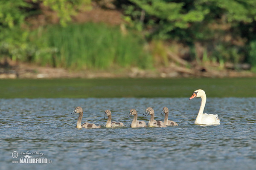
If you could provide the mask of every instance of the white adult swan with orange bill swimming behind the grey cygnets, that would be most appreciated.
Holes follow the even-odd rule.
[[[192,96],[189,98],[194,99],[195,97],[201,97],[201,106],[198,112],[198,116],[195,119],[195,124],[199,125],[220,125],[220,119],[218,118],[217,114],[207,114],[203,113],[204,112],[204,106],[206,103],[206,94],[203,90],[198,89],[194,91]]]

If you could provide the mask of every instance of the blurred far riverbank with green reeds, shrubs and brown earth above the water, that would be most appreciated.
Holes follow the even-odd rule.
[[[159,17],[155,11],[158,7],[154,8],[157,3],[151,4],[148,12],[136,2],[111,1],[106,5],[92,1],[88,4],[90,10],[80,6],[84,10],[77,10],[77,15],[66,23],[51,5],[41,1],[26,3],[15,8],[4,3],[11,14],[17,12],[14,16],[20,16],[16,18],[20,23],[15,29],[9,29],[10,23],[6,23],[6,32],[0,34],[3,79],[256,77],[255,22],[250,23],[253,18],[249,23],[227,20],[227,16],[234,15],[229,15],[229,8],[208,11],[215,6],[209,3],[209,7],[201,7],[208,12],[198,11],[199,21],[182,22],[181,18],[197,16],[191,9],[198,7],[174,3],[184,6],[185,11],[161,7],[163,14],[168,12]],[[25,11],[21,10],[24,6]],[[72,13],[65,10],[62,12],[67,16]],[[177,18],[169,20],[167,16]]]

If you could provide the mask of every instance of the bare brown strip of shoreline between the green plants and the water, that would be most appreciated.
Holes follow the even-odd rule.
[[[143,70],[140,68],[109,68],[105,70],[73,70],[42,67],[35,64],[5,61],[0,63],[0,79],[55,79],[55,78],[180,78],[180,77],[256,77],[252,71],[235,69],[225,64],[190,63],[190,68],[170,63],[166,67]],[[238,67],[238,66],[237,66]],[[242,67],[242,66],[240,66]],[[245,67],[245,66],[244,66]]]

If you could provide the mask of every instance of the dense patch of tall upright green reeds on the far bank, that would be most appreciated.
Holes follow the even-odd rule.
[[[65,68],[100,68],[113,65],[150,68],[153,59],[144,50],[145,40],[138,34],[123,35],[119,27],[85,23],[67,27],[48,26],[36,31],[34,41],[44,46],[35,62]]]

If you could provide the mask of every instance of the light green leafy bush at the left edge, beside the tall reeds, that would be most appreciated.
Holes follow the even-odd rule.
[[[28,31],[20,28],[29,14],[26,8],[29,4],[23,0],[0,1],[0,58],[17,60],[29,53]]]

